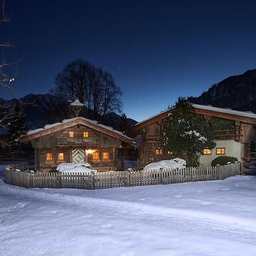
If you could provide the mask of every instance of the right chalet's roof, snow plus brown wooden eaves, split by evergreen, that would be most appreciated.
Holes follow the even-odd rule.
[[[199,104],[192,104],[194,109],[194,112],[197,114],[204,114],[204,115],[210,115],[212,117],[220,117],[224,119],[230,119],[234,121],[241,121],[243,123],[250,123],[251,125],[256,125],[256,114],[254,114],[251,111],[238,111],[233,110],[230,108],[217,108],[211,105],[199,105]],[[167,118],[168,113],[171,113],[174,108],[168,109],[162,113],[153,115],[150,118],[145,119],[144,121],[141,121],[131,127],[131,131],[139,130],[143,127],[146,127],[147,125],[150,125],[154,122],[163,120]]]

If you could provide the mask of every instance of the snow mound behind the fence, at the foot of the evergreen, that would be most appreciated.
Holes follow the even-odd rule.
[[[143,171],[148,170],[160,170],[160,168],[164,169],[176,169],[176,168],[185,168],[186,161],[181,158],[174,158],[171,160],[162,160],[160,162],[151,163],[144,167]]]

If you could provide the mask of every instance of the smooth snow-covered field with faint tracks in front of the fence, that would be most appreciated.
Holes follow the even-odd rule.
[[[255,216],[255,176],[94,191],[0,180],[1,255],[256,255]]]

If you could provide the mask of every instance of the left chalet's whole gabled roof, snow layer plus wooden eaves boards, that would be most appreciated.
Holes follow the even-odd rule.
[[[111,137],[120,139],[121,141],[124,141],[127,143],[133,143],[133,139],[127,137],[126,135],[123,135],[121,131],[114,130],[113,127],[111,126],[105,126],[105,125],[102,125],[101,123],[98,123],[98,121],[96,120],[90,120],[84,117],[64,119],[62,122],[52,123],[51,125],[46,125],[43,128],[29,130],[26,135],[22,135],[19,138],[19,141],[20,142],[30,141],[31,139],[35,139],[47,134],[55,133],[56,131],[63,130],[65,128],[72,127],[74,125],[79,125],[79,124],[85,125],[86,127],[100,131],[101,133],[104,133]]]

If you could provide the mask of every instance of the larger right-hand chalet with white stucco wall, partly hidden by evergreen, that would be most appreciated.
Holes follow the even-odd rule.
[[[205,118],[216,117],[233,121],[231,130],[214,131],[214,141],[216,148],[204,150],[204,155],[200,157],[203,166],[210,166],[213,159],[220,155],[235,156],[243,162],[243,171],[248,172],[249,166],[256,166],[251,163],[253,160],[251,142],[254,140],[256,128],[256,114],[252,112],[241,112],[232,109],[215,108],[213,106],[193,105],[193,112],[204,115]],[[173,158],[172,152],[164,150],[158,141],[163,130],[164,122],[168,120],[168,114],[175,108],[154,115],[131,127],[130,133],[139,139],[138,165],[146,166],[148,163],[158,162],[164,159]]]

